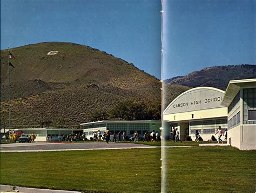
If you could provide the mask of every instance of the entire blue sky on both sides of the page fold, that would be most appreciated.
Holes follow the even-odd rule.
[[[164,0],[164,79],[256,64],[255,0]],[[160,0],[2,0],[1,49],[73,42],[160,78]]]

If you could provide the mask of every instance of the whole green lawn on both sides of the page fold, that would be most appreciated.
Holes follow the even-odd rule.
[[[255,153],[233,147],[166,148],[167,191],[255,192]],[[1,153],[1,184],[160,192],[160,181],[159,148]]]

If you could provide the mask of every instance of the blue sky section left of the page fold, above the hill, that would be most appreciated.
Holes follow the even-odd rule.
[[[2,0],[1,49],[73,42],[160,78],[160,0]]]

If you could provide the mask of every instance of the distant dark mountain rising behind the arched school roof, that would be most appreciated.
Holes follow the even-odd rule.
[[[184,85],[189,87],[210,86],[225,91],[230,80],[256,78],[256,65],[241,64],[228,66],[206,67],[194,71],[184,77],[166,80],[169,85]]]

